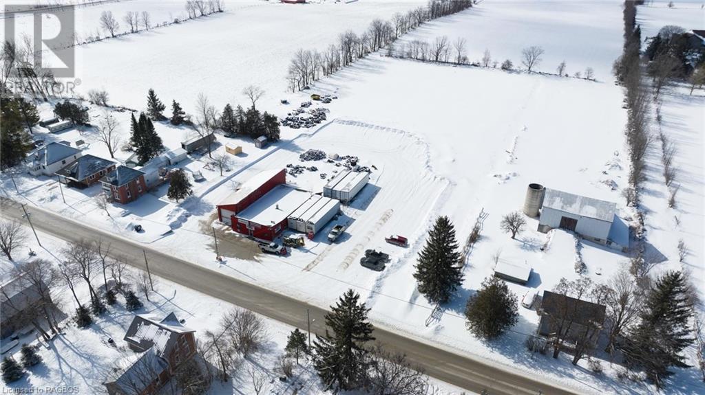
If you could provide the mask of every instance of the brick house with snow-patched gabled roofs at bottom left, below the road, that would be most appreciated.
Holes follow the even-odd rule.
[[[196,354],[194,332],[174,313],[161,320],[147,314],[135,316],[124,340],[140,354],[118,363],[116,375],[105,383],[108,394],[157,394],[180,365]]]

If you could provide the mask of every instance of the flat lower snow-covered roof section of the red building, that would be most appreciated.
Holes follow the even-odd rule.
[[[272,226],[288,219],[309,197],[308,192],[283,185],[276,186],[236,216],[255,224]]]

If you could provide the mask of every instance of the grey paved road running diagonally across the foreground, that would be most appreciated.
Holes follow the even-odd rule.
[[[200,265],[145,248],[138,242],[116,237],[37,207],[29,206],[27,209],[32,213],[32,223],[38,230],[57,238],[67,241],[103,238],[111,243],[111,251],[115,256],[126,257],[128,264],[141,269],[145,268],[142,250],[146,250],[149,269],[157,276],[303,330],[307,329],[306,310],[309,309],[311,318],[315,319],[311,327],[312,332],[324,331],[322,323],[326,310],[317,306],[224,276]],[[0,197],[0,214],[8,219],[26,221],[22,218],[20,205],[3,197]],[[478,394],[485,389],[492,395],[577,394],[570,389],[559,387],[558,384],[541,380],[541,377],[525,377],[520,373],[488,365],[483,361],[461,356],[384,328],[376,327],[374,336],[388,351],[405,353],[411,363],[421,367],[431,377]]]

